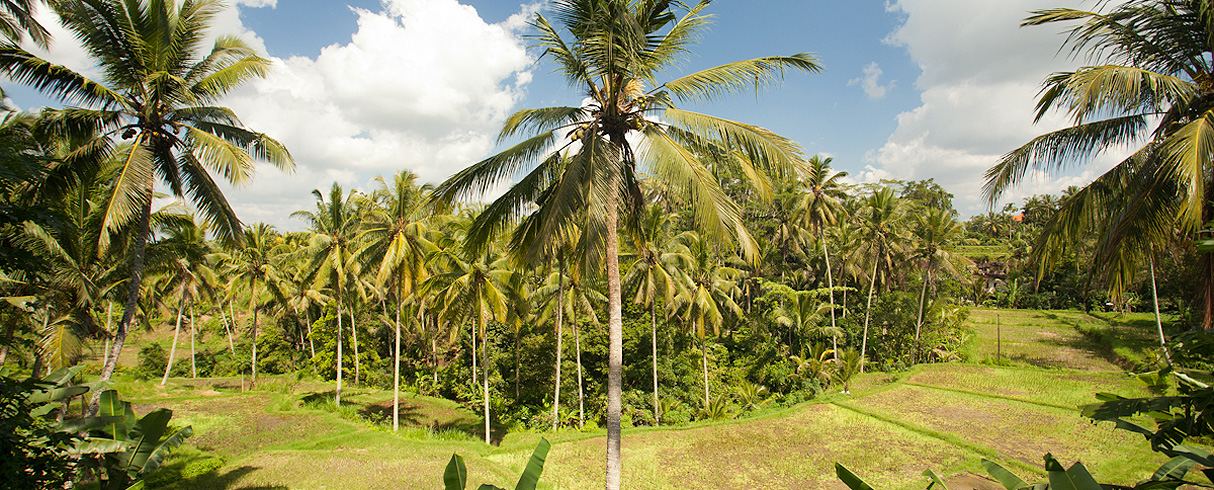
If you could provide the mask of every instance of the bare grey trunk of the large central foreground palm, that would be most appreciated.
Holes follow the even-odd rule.
[[[617,144],[624,144],[618,142]],[[607,200],[607,490],[619,490],[620,427],[624,392],[624,315],[619,284],[619,203]]]

